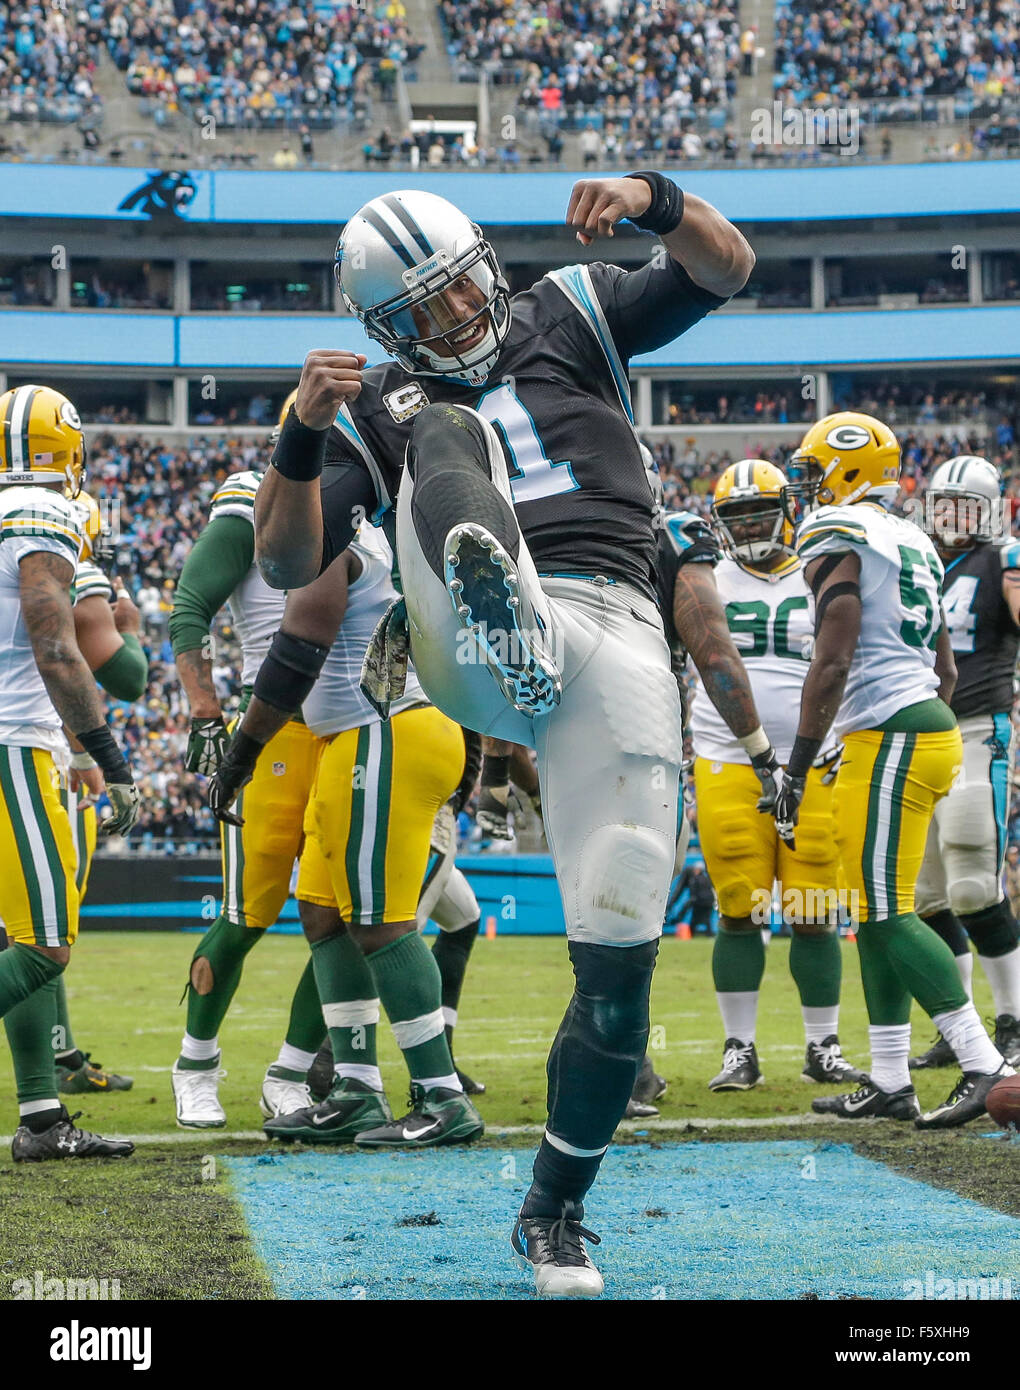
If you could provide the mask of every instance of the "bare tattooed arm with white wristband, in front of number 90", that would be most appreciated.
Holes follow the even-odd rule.
[[[760,726],[741,653],[730,635],[716,578],[707,564],[685,564],[673,592],[673,621],[688,649],[705,694],[737,738]]]

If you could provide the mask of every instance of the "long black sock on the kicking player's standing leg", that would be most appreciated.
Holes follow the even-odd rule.
[[[595,1182],[645,1056],[657,949],[657,941],[570,942],[574,997],[549,1054],[549,1123],[524,1200],[527,1216],[556,1216],[564,1202],[579,1205]],[[564,1152],[556,1141],[582,1152]]]

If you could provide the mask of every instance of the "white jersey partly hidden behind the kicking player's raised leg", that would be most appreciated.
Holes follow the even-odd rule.
[[[361,694],[361,663],[372,632],[395,598],[393,552],[377,527],[363,525],[350,543],[361,562],[361,573],[347,589],[347,610],[336,641],[322,664],[311,695],[302,705],[302,717],[313,734],[325,738],[346,728],[377,724],[379,716]],[[390,708],[390,716],[428,696],[418,684],[414,667],[407,666],[407,685]]]

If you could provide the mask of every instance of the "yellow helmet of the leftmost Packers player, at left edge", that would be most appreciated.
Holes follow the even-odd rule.
[[[76,498],[85,482],[78,411],[51,386],[15,386],[0,396],[0,484],[63,482]]]

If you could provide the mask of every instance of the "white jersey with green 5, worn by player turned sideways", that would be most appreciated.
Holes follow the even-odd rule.
[[[877,503],[859,502],[807,516],[796,549],[805,564],[821,555],[860,557],[860,639],[835,717],[837,733],[875,728],[898,710],[937,695],[945,571],[924,531]]]

